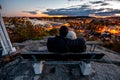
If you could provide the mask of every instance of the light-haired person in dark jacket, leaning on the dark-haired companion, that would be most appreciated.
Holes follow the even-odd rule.
[[[70,52],[84,52],[86,51],[85,39],[80,37],[77,38],[76,33],[74,32],[74,27],[69,26],[69,31],[66,35],[67,46],[69,47]]]

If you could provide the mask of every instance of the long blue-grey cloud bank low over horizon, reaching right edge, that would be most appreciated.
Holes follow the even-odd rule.
[[[77,5],[69,7],[69,8],[60,8],[60,9],[47,9],[44,14],[48,15],[68,15],[68,16],[89,16],[90,14],[96,15],[103,15],[103,16],[110,16],[114,14],[120,14],[119,9],[112,9],[112,8],[99,8],[99,9],[92,9],[90,5]]]

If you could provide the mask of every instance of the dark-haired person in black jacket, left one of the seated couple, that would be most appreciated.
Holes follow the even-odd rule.
[[[48,38],[47,48],[50,52],[67,52],[68,47],[66,45],[66,35],[68,33],[68,28],[66,26],[61,26],[59,29],[59,36],[54,38]]]

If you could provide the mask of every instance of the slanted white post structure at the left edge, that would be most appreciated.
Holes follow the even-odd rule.
[[[0,38],[1,38],[0,42],[2,44],[4,51],[5,51],[5,53],[3,53],[2,55],[6,55],[6,54],[9,54],[9,53],[16,51],[16,49],[12,46],[11,41],[9,39],[7,30],[5,28],[5,25],[4,25],[4,22],[2,19],[1,11],[2,11],[2,8],[0,6],[0,29],[1,29],[0,30]]]

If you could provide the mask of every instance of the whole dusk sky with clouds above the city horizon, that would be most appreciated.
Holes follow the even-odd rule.
[[[2,15],[120,16],[120,0],[0,0]]]

